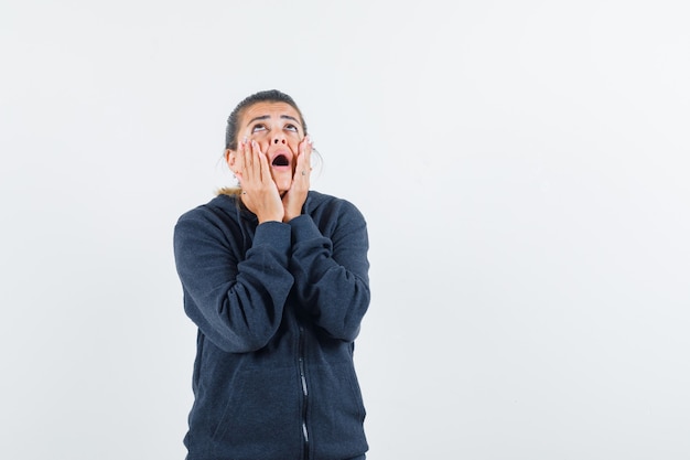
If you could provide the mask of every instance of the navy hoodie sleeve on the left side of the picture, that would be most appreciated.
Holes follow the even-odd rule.
[[[209,212],[196,210],[175,225],[175,265],[185,311],[222,350],[251,352],[263,347],[278,330],[292,288],[290,226],[259,225],[242,257],[240,229],[231,232],[223,224]]]

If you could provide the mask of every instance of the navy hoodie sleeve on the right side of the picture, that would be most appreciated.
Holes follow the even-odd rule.
[[[292,227],[291,271],[301,303],[330,335],[354,341],[369,307],[369,248],[364,216],[338,201],[326,213],[323,232],[303,214]],[[326,236],[328,235],[328,236]]]

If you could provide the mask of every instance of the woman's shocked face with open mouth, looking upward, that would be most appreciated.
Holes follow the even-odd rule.
[[[300,122],[300,114],[285,103],[256,103],[244,110],[239,118],[237,140],[247,142],[255,140],[268,159],[273,182],[280,193],[287,192],[292,185],[292,176],[297,167],[300,141],[304,138],[304,128]],[[251,152],[247,145],[245,152]],[[228,164],[236,171],[239,165],[237,152],[227,151]]]

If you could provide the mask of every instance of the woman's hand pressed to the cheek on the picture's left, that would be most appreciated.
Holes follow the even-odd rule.
[[[245,206],[259,218],[259,224],[269,221],[282,222],[283,203],[278,186],[271,176],[271,169],[259,145],[251,140],[240,141],[237,147],[240,170],[236,172],[242,189]]]

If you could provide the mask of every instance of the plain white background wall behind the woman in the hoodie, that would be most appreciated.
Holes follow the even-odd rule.
[[[373,460],[690,458],[684,0],[0,3],[0,451],[183,459],[172,255],[278,88],[370,232]]]

